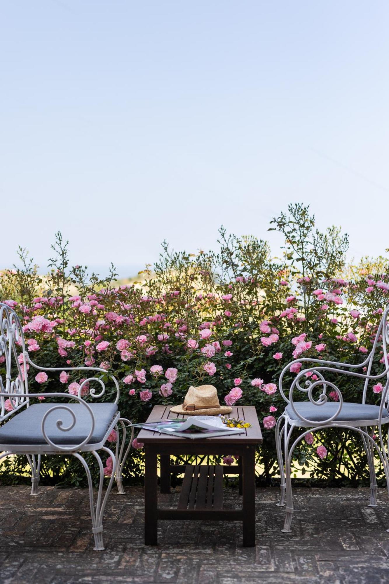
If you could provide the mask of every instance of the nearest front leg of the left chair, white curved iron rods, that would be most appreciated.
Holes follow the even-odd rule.
[[[96,458],[99,464],[99,471],[100,471],[100,479],[99,479],[99,488],[97,492],[96,503],[95,499],[93,498],[93,485],[92,485],[92,477],[91,471],[89,470],[88,464],[86,464],[85,459],[81,456],[81,454],[74,452],[72,453],[82,464],[85,469],[86,477],[88,478],[88,486],[89,486],[89,503],[91,506],[91,516],[92,516],[92,533],[93,537],[95,538],[95,547],[93,550],[99,551],[104,549],[103,544],[103,514],[105,510],[105,506],[107,503],[107,499],[109,496],[109,492],[112,487],[114,473],[116,471],[116,458],[114,454],[109,448],[105,446],[102,447],[102,450],[105,450],[107,454],[112,458],[112,475],[109,479],[109,483],[107,485],[107,490],[105,492],[105,496],[102,496],[103,492],[103,482],[104,482],[104,470],[103,470],[103,463],[99,456],[99,454],[93,450],[92,454]]]

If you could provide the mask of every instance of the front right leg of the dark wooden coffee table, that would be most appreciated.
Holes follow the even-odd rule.
[[[255,545],[255,446],[246,446],[243,470],[243,545]]]

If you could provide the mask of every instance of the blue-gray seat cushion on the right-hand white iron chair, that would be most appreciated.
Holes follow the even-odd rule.
[[[315,406],[311,404],[311,402],[293,402],[293,405],[303,418],[312,420],[313,422],[324,422],[324,420],[332,418],[339,408],[339,402],[327,402],[326,404],[319,406]],[[339,412],[339,415],[336,416],[335,420],[336,422],[377,420],[379,411],[380,408],[377,405],[343,402],[342,409]],[[296,413],[294,413],[290,404],[286,406],[286,412],[291,420],[300,420]],[[386,409],[383,409],[382,418],[387,417],[389,417],[389,413]]]

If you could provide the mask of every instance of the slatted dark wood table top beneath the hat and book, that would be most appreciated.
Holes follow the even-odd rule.
[[[171,406],[155,405],[152,408],[147,422],[157,422],[167,418],[189,418],[190,416],[172,413]],[[201,415],[199,413],[199,415]],[[169,436],[169,434],[161,434],[159,432],[151,432],[150,430],[141,429],[137,436],[137,440],[146,444],[262,444],[261,427],[259,426],[258,416],[254,406],[234,406],[232,412],[229,414],[230,418],[239,418],[249,422],[251,427],[245,428],[245,433],[242,434],[228,434],[218,438],[202,438],[189,439],[179,438],[177,436]]]

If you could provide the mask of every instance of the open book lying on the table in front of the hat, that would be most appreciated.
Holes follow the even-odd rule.
[[[180,438],[216,438],[227,434],[243,434],[243,428],[228,428],[218,416],[190,416],[187,419],[167,419],[141,425],[144,430],[170,434]]]

